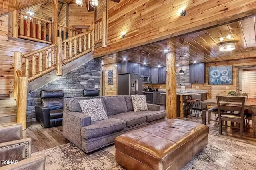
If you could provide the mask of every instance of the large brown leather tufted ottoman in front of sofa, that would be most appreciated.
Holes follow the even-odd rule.
[[[116,162],[128,170],[180,170],[208,144],[208,133],[208,126],[180,119],[133,130],[116,138]]]

